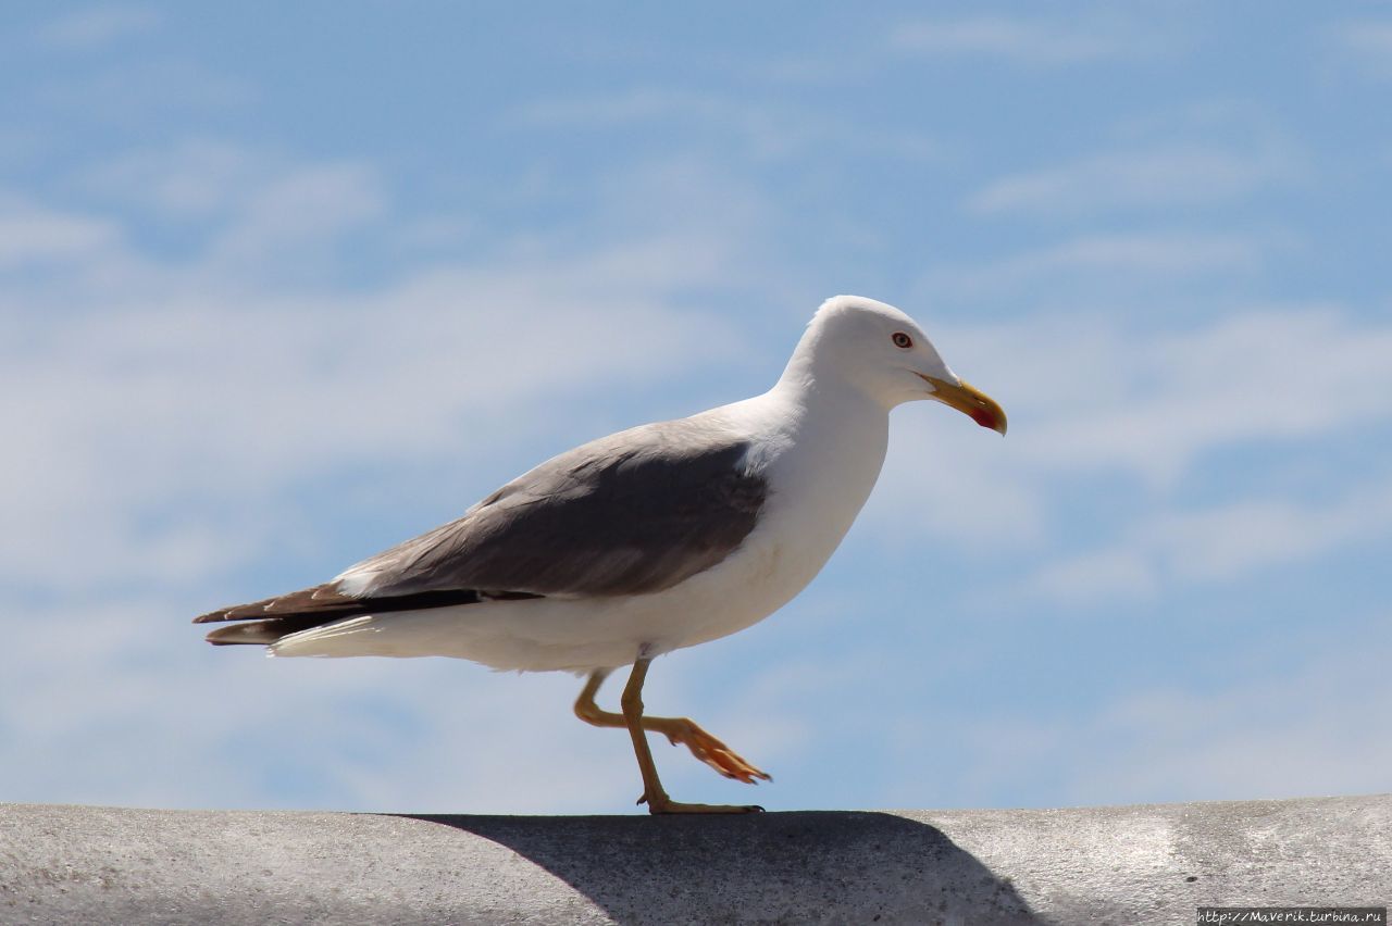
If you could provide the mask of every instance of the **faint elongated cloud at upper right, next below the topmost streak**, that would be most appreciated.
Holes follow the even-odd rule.
[[[1267,189],[1293,177],[1295,170],[1289,154],[1271,147],[1237,152],[1164,145],[1005,177],[973,193],[966,209],[977,216],[1005,216],[1207,206]]]

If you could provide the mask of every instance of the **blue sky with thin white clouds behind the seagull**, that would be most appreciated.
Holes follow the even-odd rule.
[[[1389,787],[1392,8],[0,18],[0,799],[628,812],[568,676],[187,622],[763,391],[839,292],[1011,434],[898,410],[817,581],[656,665],[777,779],[675,795]]]

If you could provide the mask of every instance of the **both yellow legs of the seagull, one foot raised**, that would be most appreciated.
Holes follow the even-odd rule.
[[[735,806],[722,804],[682,804],[674,801],[663,790],[663,783],[657,777],[657,765],[653,762],[653,752],[647,745],[646,730],[656,730],[664,734],[672,744],[683,744],[697,759],[710,765],[721,774],[742,781],[756,777],[768,779],[767,774],[749,765],[731,752],[724,742],[710,736],[686,717],[644,717],[643,716],[643,681],[647,679],[647,667],[651,659],[639,659],[633,663],[633,672],[624,685],[621,699],[624,713],[610,713],[601,710],[594,704],[594,695],[600,684],[604,683],[607,670],[590,674],[585,683],[585,690],[575,701],[575,715],[597,727],[626,727],[633,740],[633,755],[638,758],[638,770],[643,776],[643,797],[639,802],[647,802],[647,809],[653,813],[749,813],[760,811],[759,806]]]

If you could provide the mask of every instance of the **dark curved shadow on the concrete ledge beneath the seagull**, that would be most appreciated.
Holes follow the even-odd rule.
[[[937,827],[892,813],[434,816],[571,884],[618,923],[1045,923]]]

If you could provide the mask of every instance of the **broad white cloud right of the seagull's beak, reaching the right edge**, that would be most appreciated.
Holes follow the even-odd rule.
[[[1026,452],[1038,463],[1121,467],[1165,482],[1219,446],[1310,438],[1392,416],[1392,328],[1338,311],[1250,311],[1144,339],[1114,330],[1104,341],[1112,353],[1101,357],[1104,368],[1119,362],[1125,378],[1087,406],[1058,407],[1027,425]],[[1043,357],[1059,371],[1054,378],[1080,385],[1094,360],[1068,343]],[[1038,362],[1030,367],[1045,375]]]

